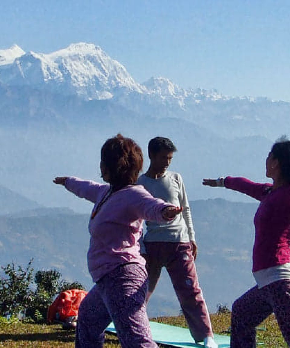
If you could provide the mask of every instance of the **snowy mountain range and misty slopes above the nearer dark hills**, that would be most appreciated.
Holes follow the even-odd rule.
[[[184,89],[164,77],[138,83],[94,44],[49,54],[17,45],[0,50],[0,176],[7,188],[44,206],[86,212],[52,179],[98,176],[101,145],[119,132],[140,144],[144,168],[148,140],[171,138],[178,148],[171,169],[183,175],[189,199],[248,201],[201,181],[227,174],[264,181],[273,141],[290,133],[289,114],[289,103],[266,97]]]

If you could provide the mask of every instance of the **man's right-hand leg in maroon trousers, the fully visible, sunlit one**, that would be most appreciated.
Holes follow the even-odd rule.
[[[210,316],[199,287],[191,243],[168,243],[167,271],[196,342],[213,337]]]

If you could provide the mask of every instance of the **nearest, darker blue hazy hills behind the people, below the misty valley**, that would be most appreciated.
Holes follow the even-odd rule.
[[[3,204],[2,198],[9,195],[3,196],[1,192],[5,190],[0,191]],[[90,288],[92,281],[86,265],[89,215],[76,214],[66,208],[31,209],[29,204],[27,200],[27,205],[16,205],[18,212],[13,210],[0,216],[0,264],[12,260],[16,264],[27,264],[34,258],[36,270],[56,268],[63,278],[78,280]],[[199,280],[210,311],[215,311],[217,303],[230,306],[253,284],[252,220],[257,205],[224,199],[198,200],[190,204],[199,247],[196,262]],[[148,312],[155,316],[177,314],[178,311],[179,304],[164,272]]]

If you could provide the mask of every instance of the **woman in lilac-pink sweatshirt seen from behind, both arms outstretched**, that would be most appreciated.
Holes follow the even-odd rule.
[[[147,273],[138,240],[144,219],[169,221],[182,208],[135,185],[142,166],[140,147],[118,134],[101,149],[101,173],[108,184],[76,177],[54,179],[94,204],[87,261],[95,286],[79,308],[76,348],[101,348],[111,321],[122,347],[157,347],[146,314]]]

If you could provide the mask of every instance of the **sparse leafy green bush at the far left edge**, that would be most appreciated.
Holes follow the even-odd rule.
[[[25,312],[33,301],[33,259],[26,268],[16,267],[14,262],[2,267],[5,277],[0,279],[0,315],[17,315]]]

